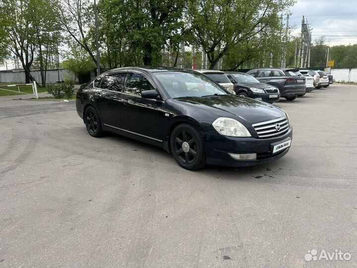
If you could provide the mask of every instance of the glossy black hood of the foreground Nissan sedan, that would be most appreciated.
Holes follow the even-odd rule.
[[[248,125],[285,117],[285,112],[274,105],[236,95],[179,99],[179,101],[209,111],[219,117],[245,121]]]

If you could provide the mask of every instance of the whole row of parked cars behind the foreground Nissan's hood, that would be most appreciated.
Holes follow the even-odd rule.
[[[196,70],[221,84],[231,93],[269,103],[280,97],[289,101],[314,88],[328,87],[333,82],[322,70],[304,68],[257,68],[247,73],[237,71]]]

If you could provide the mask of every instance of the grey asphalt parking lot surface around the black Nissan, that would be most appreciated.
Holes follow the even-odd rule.
[[[290,152],[248,168],[179,167],[93,138],[74,102],[0,98],[0,267],[357,267],[357,86],[276,105]],[[349,261],[305,261],[309,250]]]

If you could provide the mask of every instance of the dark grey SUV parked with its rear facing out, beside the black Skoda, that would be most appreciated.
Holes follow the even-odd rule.
[[[280,90],[280,96],[287,100],[295,100],[306,92],[305,77],[297,76],[296,68],[258,68],[247,73],[262,83],[271,84]]]

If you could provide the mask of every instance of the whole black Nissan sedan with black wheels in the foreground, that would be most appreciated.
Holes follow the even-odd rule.
[[[110,70],[78,89],[76,108],[90,135],[110,131],[158,145],[189,170],[277,160],[293,137],[280,108],[232,95],[189,69]]]

